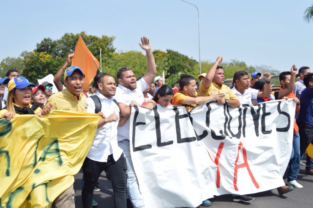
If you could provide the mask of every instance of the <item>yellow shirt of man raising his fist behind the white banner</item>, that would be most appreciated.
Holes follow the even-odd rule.
[[[199,96],[211,96],[212,93],[225,93],[225,99],[227,100],[238,100],[234,92],[225,84],[222,84],[221,87],[219,87],[216,83],[211,83],[211,85],[208,88],[205,88],[203,86],[203,83],[201,81],[199,85]]]

